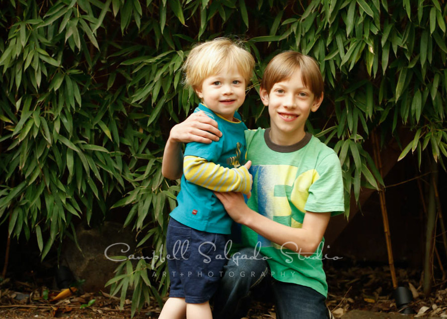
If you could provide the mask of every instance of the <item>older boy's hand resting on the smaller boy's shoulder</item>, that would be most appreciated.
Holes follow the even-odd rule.
[[[169,134],[169,139],[175,142],[200,142],[209,144],[218,141],[222,132],[218,124],[205,112],[199,111],[191,114],[185,121],[175,125]]]

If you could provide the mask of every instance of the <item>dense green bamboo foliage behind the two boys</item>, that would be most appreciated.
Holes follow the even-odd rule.
[[[376,128],[382,142],[414,130],[401,157],[411,149],[421,162],[427,149],[444,167],[446,16],[442,0],[2,0],[1,222],[37,236],[44,258],[76,240],[79,222],[124,206],[139,247],[158,251],[178,191],[161,176],[164,141],[198,101],[180,68],[216,36],[248,40],[256,58],[240,110],[251,128],[268,126],[256,90],[271,57],[293,49],[319,62],[325,101],[308,129],[338,153],[347,198],[383,184],[364,149]],[[127,261],[110,282],[123,301],[135,288],[134,312],[166,291],[147,268],[165,270]]]

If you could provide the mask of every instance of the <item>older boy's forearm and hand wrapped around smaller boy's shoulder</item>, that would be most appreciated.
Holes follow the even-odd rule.
[[[164,147],[161,173],[164,177],[176,180],[182,176],[183,154],[181,143],[201,142],[209,144],[218,141],[222,132],[216,121],[200,111],[191,114],[185,121],[175,125]]]

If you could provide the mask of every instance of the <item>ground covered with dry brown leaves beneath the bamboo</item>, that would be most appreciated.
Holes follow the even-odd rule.
[[[329,285],[328,307],[336,318],[352,310],[367,310],[373,313],[399,313],[392,296],[388,267],[326,267]],[[397,273],[400,285],[406,285],[414,300],[409,307],[415,317],[447,317],[447,281],[439,280],[429,296],[421,291],[421,273],[400,269]],[[79,319],[124,319],[131,318],[131,301],[126,299],[120,310],[119,298],[107,292],[88,293],[76,291],[71,296],[53,300],[60,291],[35,287],[29,283],[5,280],[0,286],[0,318],[79,318]],[[158,318],[160,307],[153,301],[136,319]],[[247,318],[276,318],[272,304],[254,302]]]

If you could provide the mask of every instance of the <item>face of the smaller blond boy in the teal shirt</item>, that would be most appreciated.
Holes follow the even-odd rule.
[[[232,121],[234,112],[245,100],[245,79],[236,67],[225,66],[203,80],[196,93],[210,110]]]

